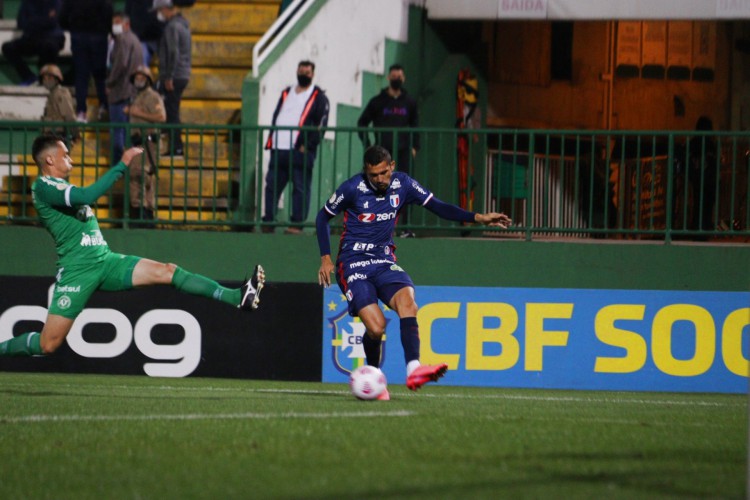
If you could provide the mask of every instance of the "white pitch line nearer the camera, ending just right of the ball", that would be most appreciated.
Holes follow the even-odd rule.
[[[122,422],[160,420],[285,420],[285,419],[330,419],[330,418],[373,418],[410,417],[414,412],[396,411],[349,411],[349,412],[284,412],[284,413],[186,413],[184,415],[25,415],[20,417],[0,417],[0,423],[37,422]]]

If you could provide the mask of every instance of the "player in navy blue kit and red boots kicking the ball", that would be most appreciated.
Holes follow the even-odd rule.
[[[414,283],[396,264],[393,229],[401,210],[419,204],[443,219],[478,222],[507,227],[510,218],[502,213],[478,214],[444,203],[416,180],[394,172],[395,163],[382,146],[365,151],[361,174],[345,181],[318,213],[316,226],[320,247],[318,283],[331,284],[331,272],[346,296],[349,314],[359,316],[366,328],[362,337],[367,364],[380,365],[381,339],[385,334],[385,316],[378,307],[380,299],[396,311],[401,323],[401,344],[406,359],[406,386],[415,391],[436,381],[448,365],[419,363],[419,327]],[[329,221],[344,212],[344,232],[339,243],[336,265],[331,261]],[[379,399],[388,399],[388,393]]]

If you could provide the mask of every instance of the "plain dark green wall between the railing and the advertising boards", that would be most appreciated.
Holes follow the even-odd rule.
[[[240,280],[262,263],[270,282],[317,280],[314,235],[103,230],[112,250]],[[333,236],[335,247],[336,236]],[[750,290],[750,246],[525,242],[490,238],[398,240],[399,264],[419,285],[655,290]],[[0,276],[53,276],[41,228],[0,226]],[[4,290],[3,293],[10,293]]]

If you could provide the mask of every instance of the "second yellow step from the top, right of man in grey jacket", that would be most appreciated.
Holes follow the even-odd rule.
[[[230,67],[249,70],[253,65],[253,47],[260,35],[194,35],[194,68]]]

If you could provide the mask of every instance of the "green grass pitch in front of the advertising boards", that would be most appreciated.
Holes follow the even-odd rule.
[[[0,498],[743,498],[746,395],[0,373]]]

